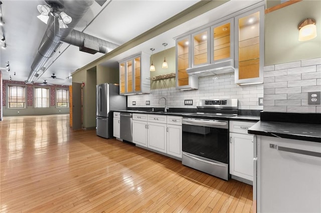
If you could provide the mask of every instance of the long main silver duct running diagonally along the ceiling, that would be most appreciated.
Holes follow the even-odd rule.
[[[44,37],[38,47],[38,53],[31,65],[31,71],[29,73],[26,83],[34,83],[35,74],[39,71],[48,59],[54,54],[55,50],[60,44],[60,41],[67,37],[67,35],[73,30],[78,21],[84,16],[93,0],[46,0],[49,5],[60,4],[63,5],[63,11],[72,17],[71,23],[68,24],[68,28],[59,28],[57,18],[50,16],[48,21],[48,27]]]

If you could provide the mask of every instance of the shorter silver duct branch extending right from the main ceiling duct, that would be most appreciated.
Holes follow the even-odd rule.
[[[113,50],[114,48],[117,48],[119,45],[100,39],[98,37],[92,36],[90,34],[86,34],[84,32],[80,32],[76,29],[73,29],[67,37],[62,39],[61,41],[69,43],[71,45],[82,47],[84,45],[84,39],[89,39],[95,43],[99,44],[99,52],[101,53],[107,53]]]

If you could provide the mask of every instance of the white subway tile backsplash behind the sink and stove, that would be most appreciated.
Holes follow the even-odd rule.
[[[127,106],[164,107],[164,99],[158,103],[162,96],[166,97],[170,108],[196,108],[199,99],[238,98],[239,109],[263,109],[263,106],[258,105],[258,97],[263,97],[263,85],[239,86],[235,84],[234,75],[231,74],[200,77],[199,89],[195,90],[182,91],[172,87],[152,89],[149,94],[128,95]],[[193,99],[193,105],[184,105],[185,99]],[[150,100],[150,105],[145,105],[146,100]],[[136,101],[136,105],[132,105],[132,101]]]

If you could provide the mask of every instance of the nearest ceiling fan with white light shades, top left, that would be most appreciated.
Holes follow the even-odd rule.
[[[52,15],[55,19],[58,18],[59,28],[68,28],[68,23],[72,21],[72,18],[67,15],[65,12],[59,11],[59,9],[64,8],[64,6],[58,1],[49,1],[50,5],[41,5],[37,6],[40,15],[37,17],[42,20],[44,23],[48,23],[49,15]]]

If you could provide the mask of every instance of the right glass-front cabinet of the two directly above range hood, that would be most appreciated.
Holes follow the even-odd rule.
[[[211,63],[234,59],[234,19],[211,26]]]

